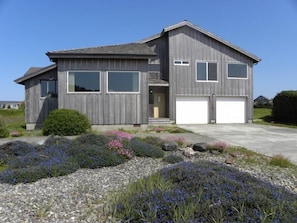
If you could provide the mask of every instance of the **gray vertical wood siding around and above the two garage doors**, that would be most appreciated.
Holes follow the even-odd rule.
[[[253,61],[245,55],[211,39],[187,26],[169,32],[169,104],[170,118],[175,120],[177,95],[192,96],[246,96],[247,120],[253,112]],[[188,60],[190,66],[175,66],[173,60]],[[196,81],[196,61],[216,62],[217,82]],[[248,65],[247,79],[228,79],[227,64],[230,62]]]

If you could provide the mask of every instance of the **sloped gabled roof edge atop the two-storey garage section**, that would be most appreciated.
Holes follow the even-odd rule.
[[[228,42],[228,41],[226,41],[226,40],[224,40],[224,39],[222,39],[222,38],[220,38],[220,37],[218,37],[218,36],[216,36],[216,35],[214,35],[214,34],[212,34],[210,32],[208,32],[208,31],[206,31],[206,30],[204,30],[204,29],[202,29],[202,28],[200,28],[200,27],[198,27],[198,26],[196,26],[196,25],[194,25],[194,24],[192,24],[192,23],[190,23],[190,22],[188,22],[186,20],[183,21],[183,22],[177,23],[175,25],[168,26],[168,27],[164,28],[161,33],[153,35],[153,36],[148,37],[146,39],[143,39],[143,40],[139,41],[139,43],[150,42],[152,40],[160,38],[161,36],[164,35],[164,33],[167,33],[167,32],[172,31],[174,29],[181,28],[183,26],[188,26],[188,27],[190,27],[190,28],[192,28],[194,30],[197,30],[198,32],[203,33],[204,35],[206,35],[206,36],[208,36],[208,37],[210,37],[210,38],[212,38],[212,39],[214,39],[214,40],[216,40],[216,41],[218,41],[218,42],[220,42],[220,43],[222,43],[222,44],[224,44],[224,45],[226,45],[226,46],[228,46],[228,47],[230,47],[230,48],[232,48],[232,49],[234,49],[234,50],[236,50],[236,51],[238,51],[238,52],[240,52],[240,53],[242,53],[244,55],[246,55],[247,57],[251,58],[254,63],[258,63],[258,62],[261,61],[261,59],[258,58],[257,56],[255,56],[254,54],[251,54],[251,53],[247,52],[246,50],[243,50],[240,47],[238,47],[238,46],[236,46],[236,45],[234,45],[234,44],[232,44],[232,43],[230,43],[230,42]]]

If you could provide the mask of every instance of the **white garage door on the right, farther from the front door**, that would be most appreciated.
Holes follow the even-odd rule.
[[[216,102],[216,123],[245,123],[246,98],[218,97]]]

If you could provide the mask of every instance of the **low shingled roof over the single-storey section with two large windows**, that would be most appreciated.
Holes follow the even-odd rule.
[[[46,55],[55,61],[58,58],[128,58],[147,59],[156,54],[145,43],[129,43],[81,49],[50,51]]]

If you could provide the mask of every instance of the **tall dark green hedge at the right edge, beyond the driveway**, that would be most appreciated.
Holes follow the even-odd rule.
[[[273,99],[274,121],[297,124],[297,91],[282,91]]]

